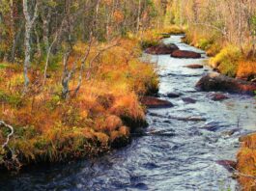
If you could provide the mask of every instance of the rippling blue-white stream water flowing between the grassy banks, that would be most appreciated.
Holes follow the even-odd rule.
[[[35,167],[18,176],[0,175],[0,190],[237,190],[232,174],[216,163],[235,160],[238,138],[256,129],[255,99],[228,95],[213,101],[213,93],[197,92],[196,82],[211,68],[184,68],[204,64],[202,50],[173,36],[181,49],[203,54],[203,59],[175,59],[152,56],[160,76],[159,95],[175,106],[150,109],[147,136],[136,137],[121,150],[113,150],[94,160],[51,167]],[[145,55],[144,58],[148,57]],[[167,93],[181,97],[168,98]],[[195,103],[187,103],[190,97]],[[185,120],[189,119],[189,120]]]

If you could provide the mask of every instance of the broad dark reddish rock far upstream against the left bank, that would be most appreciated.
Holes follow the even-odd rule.
[[[161,43],[159,45],[155,45],[155,46],[147,48],[145,52],[147,54],[159,55],[159,54],[172,54],[175,50],[179,50],[179,47],[176,44],[174,44],[174,43],[171,43],[171,44]]]

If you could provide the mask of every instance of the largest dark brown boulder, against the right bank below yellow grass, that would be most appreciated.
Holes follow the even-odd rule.
[[[199,91],[222,91],[235,94],[254,95],[256,84],[227,77],[219,73],[210,73],[202,77],[196,84]]]

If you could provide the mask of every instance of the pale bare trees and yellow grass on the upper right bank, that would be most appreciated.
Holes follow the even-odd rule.
[[[205,49],[211,66],[245,80],[256,76],[254,0],[176,0],[173,22],[187,27],[185,42]]]

